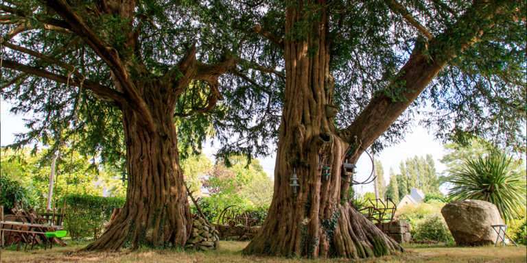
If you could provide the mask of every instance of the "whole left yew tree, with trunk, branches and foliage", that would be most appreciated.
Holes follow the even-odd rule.
[[[255,124],[252,117],[261,127],[272,123],[278,97],[248,83],[281,74],[256,64],[257,45],[242,49],[237,34],[215,28],[222,15],[216,11],[207,3],[172,0],[0,2],[1,95],[13,112],[30,115],[28,132],[14,146],[68,144],[93,156],[95,166],[104,162],[126,172],[124,208],[86,249],[185,245],[191,215],[178,130],[183,153],[199,151],[215,116],[218,131],[238,127],[244,140],[224,153],[265,151],[244,149],[253,141],[267,145],[246,124]],[[222,88],[226,73],[237,77]],[[222,93],[233,99],[216,109]],[[245,105],[254,96],[268,106]],[[262,113],[244,118],[247,110]]]

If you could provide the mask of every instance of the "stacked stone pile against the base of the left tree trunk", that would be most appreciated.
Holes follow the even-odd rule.
[[[187,249],[213,250],[218,249],[218,230],[204,218],[194,215],[192,234],[187,240]]]

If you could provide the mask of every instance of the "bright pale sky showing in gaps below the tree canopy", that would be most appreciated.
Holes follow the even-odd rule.
[[[27,118],[28,116],[14,115],[9,112],[10,104],[6,101],[1,101],[0,106],[0,143],[3,146],[14,141],[14,134],[26,131],[23,118]],[[209,158],[213,159],[215,149],[207,143],[204,146],[204,153]],[[412,132],[406,134],[403,141],[399,142],[397,145],[384,149],[379,155],[375,156],[375,159],[382,162],[382,166],[384,167],[384,178],[386,183],[388,183],[388,172],[390,167],[392,167],[397,173],[399,171],[399,162],[413,157],[414,155],[421,156],[426,154],[431,154],[434,157],[434,160],[436,161],[436,169],[439,173],[445,170],[445,166],[439,162],[445,154],[443,145],[441,142],[434,140],[433,136],[428,134],[423,127],[416,125],[413,127]],[[273,154],[266,158],[259,158],[261,165],[264,167],[264,171],[266,171],[271,178],[274,175],[275,157],[276,156]],[[366,179],[371,173],[371,162],[368,156],[362,155],[357,165],[357,180]],[[367,186],[355,186],[355,188],[355,190],[358,190],[359,192],[373,191],[373,186],[371,184]]]

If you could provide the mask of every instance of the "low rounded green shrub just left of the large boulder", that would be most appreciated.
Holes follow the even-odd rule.
[[[414,229],[412,238],[415,241],[452,242],[452,234],[442,216],[430,216],[421,220]]]

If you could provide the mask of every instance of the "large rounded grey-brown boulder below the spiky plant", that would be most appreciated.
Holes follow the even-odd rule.
[[[491,225],[503,224],[496,206],[487,201],[454,201],[447,203],[441,209],[441,214],[456,244],[460,246],[493,244],[497,234]]]

